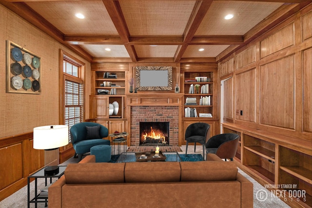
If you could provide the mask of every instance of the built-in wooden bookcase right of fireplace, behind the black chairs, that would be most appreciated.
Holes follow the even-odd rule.
[[[196,122],[210,125],[210,136],[220,132],[217,111],[217,64],[181,63],[181,93],[183,95],[182,145],[186,145],[184,132]],[[197,87],[198,85],[198,91]]]

